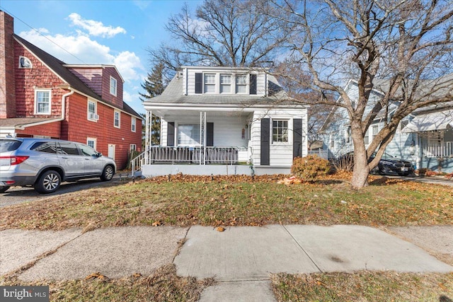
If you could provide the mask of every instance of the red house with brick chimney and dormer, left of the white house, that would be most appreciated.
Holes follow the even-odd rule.
[[[0,11],[0,137],[79,141],[125,168],[142,149],[142,117],[122,100],[113,65],[71,65],[13,33]]]

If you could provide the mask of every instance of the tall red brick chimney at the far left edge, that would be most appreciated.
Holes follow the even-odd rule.
[[[16,117],[14,19],[0,11],[0,118]]]

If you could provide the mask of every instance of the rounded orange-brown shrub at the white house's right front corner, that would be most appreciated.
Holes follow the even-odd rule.
[[[314,180],[319,176],[328,175],[331,170],[331,163],[317,155],[294,158],[291,167],[292,174],[306,180]]]

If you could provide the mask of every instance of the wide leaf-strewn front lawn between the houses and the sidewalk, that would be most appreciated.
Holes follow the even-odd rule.
[[[279,185],[285,175],[173,175],[84,190],[2,209],[0,229],[108,226],[262,226],[265,224],[453,224],[451,187],[373,177],[352,190],[326,178]]]

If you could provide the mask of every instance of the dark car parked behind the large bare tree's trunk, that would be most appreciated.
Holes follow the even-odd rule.
[[[372,154],[371,158],[369,158],[369,162],[374,159],[375,154],[376,153]],[[350,163],[350,166],[352,167],[354,164],[354,152],[345,153],[343,156],[340,156],[337,161]],[[403,159],[384,153],[377,164],[377,167],[374,168],[371,173],[407,176],[412,174],[414,170],[414,165],[410,161],[404,161]]]

